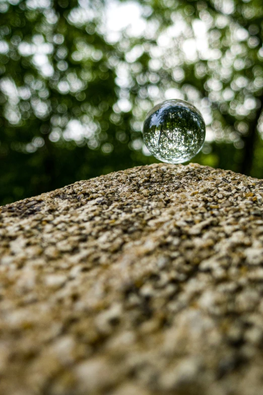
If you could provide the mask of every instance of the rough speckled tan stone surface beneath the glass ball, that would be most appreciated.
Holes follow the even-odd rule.
[[[1,395],[263,394],[262,198],[153,164],[1,207]]]

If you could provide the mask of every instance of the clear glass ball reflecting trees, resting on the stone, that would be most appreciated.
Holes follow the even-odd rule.
[[[203,147],[206,125],[201,112],[184,100],[166,100],[148,112],[143,138],[149,151],[166,163],[183,163]]]

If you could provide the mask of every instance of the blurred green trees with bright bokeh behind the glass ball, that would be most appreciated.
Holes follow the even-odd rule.
[[[262,0],[0,0],[0,204],[157,160],[158,102],[198,107],[192,161],[263,178]]]

